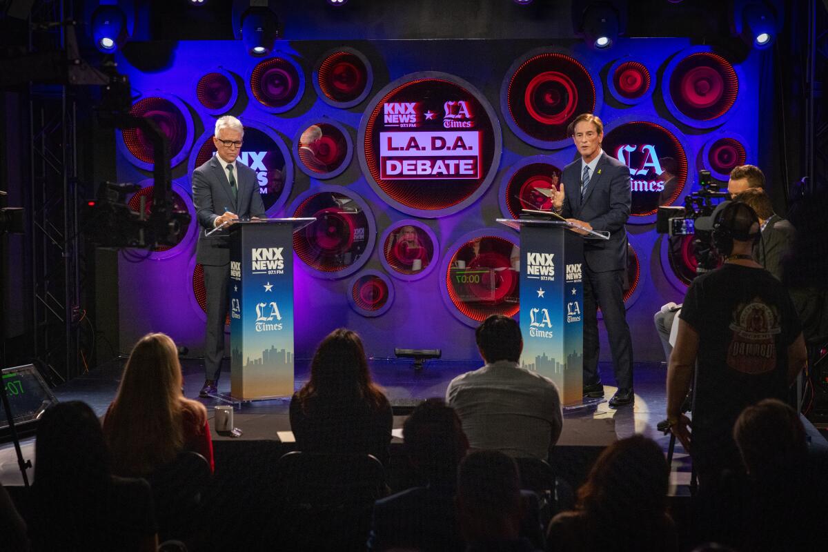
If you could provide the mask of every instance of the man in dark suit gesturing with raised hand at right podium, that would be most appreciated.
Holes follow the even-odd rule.
[[[633,341],[623,304],[627,269],[627,231],[632,196],[629,169],[601,150],[604,123],[584,113],[570,123],[569,132],[580,159],[564,168],[563,185],[553,201],[556,212],[590,230],[609,232],[609,240],[584,240],[584,396],[604,396],[598,373],[598,308],[613,355],[618,391],[609,400],[617,407],[633,402]]]

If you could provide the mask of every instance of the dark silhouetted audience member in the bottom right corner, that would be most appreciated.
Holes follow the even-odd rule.
[[[748,478],[739,550],[813,550],[815,531],[826,516],[825,458],[808,454],[797,411],[776,399],[746,408],[734,425]]]

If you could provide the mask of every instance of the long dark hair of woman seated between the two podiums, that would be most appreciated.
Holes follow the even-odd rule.
[[[303,402],[310,396],[360,398],[378,404],[379,388],[371,380],[362,340],[339,328],[319,344],[310,362],[310,380],[299,391]]]

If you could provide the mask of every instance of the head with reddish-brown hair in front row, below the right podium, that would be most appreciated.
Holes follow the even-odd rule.
[[[648,523],[667,511],[670,468],[661,447],[636,434],[609,445],[578,490],[578,509],[604,521]]]

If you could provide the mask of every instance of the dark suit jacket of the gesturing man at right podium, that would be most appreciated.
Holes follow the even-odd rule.
[[[595,174],[590,178],[583,201],[580,199],[580,157],[564,167],[561,183],[566,196],[561,215],[590,223],[594,230],[609,232],[609,240],[585,239],[584,261],[591,271],[606,272],[627,268],[627,231],[632,195],[629,169],[601,152]]]

